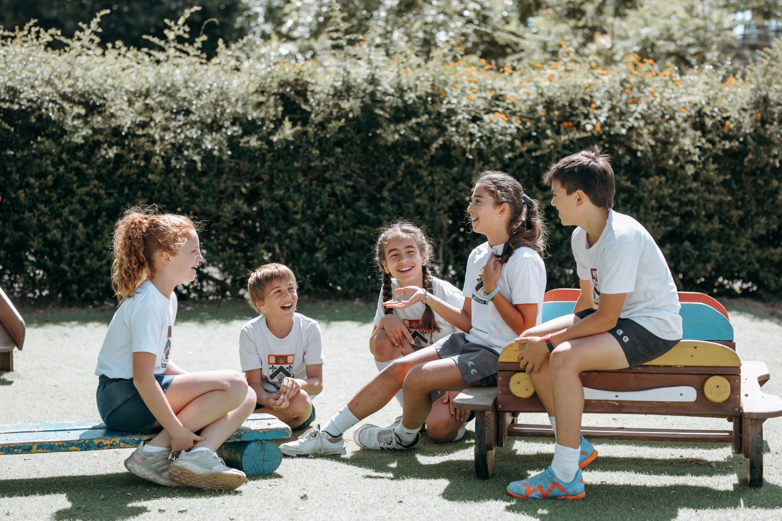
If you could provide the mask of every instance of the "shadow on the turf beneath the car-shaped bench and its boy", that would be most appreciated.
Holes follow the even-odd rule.
[[[646,446],[643,442],[635,442]],[[653,476],[691,476],[693,484],[660,486],[633,484],[587,484],[584,501],[534,501],[512,498],[505,487],[513,480],[521,480],[551,463],[551,453],[518,455],[510,448],[512,442],[497,449],[494,474],[490,480],[475,476],[472,462],[473,435],[468,432],[464,440],[453,444],[434,444],[422,440],[415,451],[389,453],[356,451],[350,458],[339,459],[360,469],[371,471],[364,476],[371,480],[448,480],[443,498],[457,502],[502,501],[506,511],[518,512],[539,519],[650,519],[668,521],[679,516],[680,509],[716,510],[736,509],[753,505],[760,509],[775,509],[782,505],[782,487],[763,484],[751,488],[746,483],[744,457],[733,455],[729,459],[701,464],[686,464],[675,459],[598,458],[590,470],[601,472],[643,473]],[[693,444],[703,448],[704,444]],[[724,444],[713,444],[724,448]],[[655,446],[658,446],[655,443]],[[468,459],[446,459],[428,464],[432,456],[454,456],[465,451]],[[676,451],[682,446],[676,445]],[[421,457],[424,460],[421,461]],[[699,477],[737,476],[738,483],[732,491],[698,486]],[[743,501],[743,503],[742,503]]]

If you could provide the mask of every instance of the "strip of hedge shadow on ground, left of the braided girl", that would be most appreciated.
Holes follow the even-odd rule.
[[[108,324],[117,308],[114,306],[88,308],[21,309],[27,327],[57,323]],[[296,311],[319,322],[352,320],[370,323],[375,317],[375,303],[346,300],[320,300],[302,298]],[[249,320],[257,315],[243,300],[191,302],[181,301],[177,311],[177,322],[205,323],[207,320],[230,322]]]

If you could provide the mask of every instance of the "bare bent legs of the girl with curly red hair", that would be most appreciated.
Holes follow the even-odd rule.
[[[177,375],[166,390],[171,410],[182,425],[192,431],[202,429],[196,447],[217,450],[244,423],[255,409],[255,391],[247,386],[242,373],[204,371]],[[155,426],[160,426],[156,422]],[[150,445],[170,447],[171,438],[162,430]]]

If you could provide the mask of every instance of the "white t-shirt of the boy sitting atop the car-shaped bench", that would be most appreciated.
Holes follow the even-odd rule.
[[[632,319],[665,340],[682,337],[681,306],[671,270],[655,239],[636,219],[608,210],[592,248],[581,228],[573,231],[571,245],[579,279],[592,282],[595,305],[601,293],[626,293],[619,318]]]

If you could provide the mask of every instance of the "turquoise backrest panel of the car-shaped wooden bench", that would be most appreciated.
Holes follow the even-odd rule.
[[[543,322],[569,315],[576,302],[543,302]],[[705,341],[733,341],[734,330],[728,319],[710,305],[700,302],[682,302],[683,339]]]

